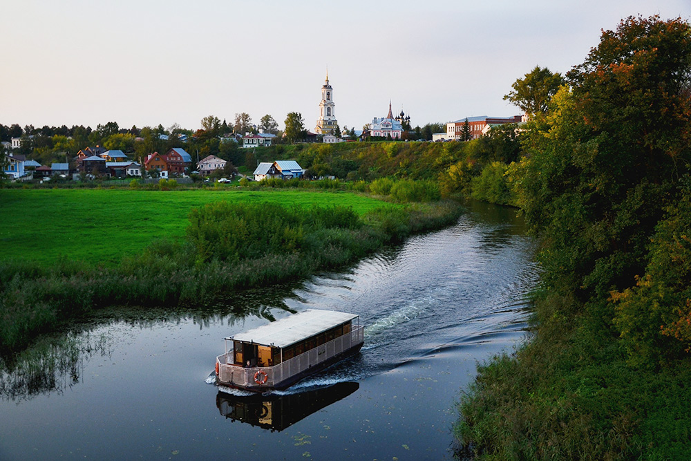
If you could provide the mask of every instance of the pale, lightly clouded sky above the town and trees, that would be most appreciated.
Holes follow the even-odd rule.
[[[691,0],[0,0],[0,123],[198,129],[287,113],[314,129],[328,66],[341,128],[520,113],[536,65],[565,73],[631,15]]]

